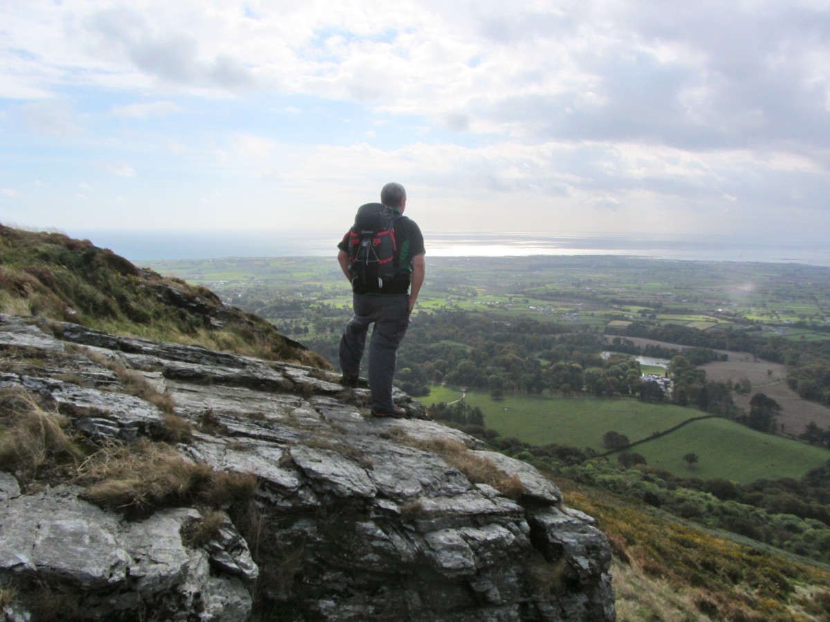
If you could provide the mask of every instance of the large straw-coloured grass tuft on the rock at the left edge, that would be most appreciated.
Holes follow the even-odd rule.
[[[0,389],[0,468],[16,472],[26,481],[37,479],[41,469],[81,458],[66,430],[69,420],[41,409],[35,398],[19,387]]]

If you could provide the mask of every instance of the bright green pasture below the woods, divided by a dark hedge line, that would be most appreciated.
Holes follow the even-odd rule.
[[[425,405],[451,402],[461,392],[436,386]],[[701,411],[667,404],[646,404],[632,399],[592,397],[506,396],[494,401],[483,391],[467,391],[466,402],[484,413],[486,426],[502,436],[530,445],[569,445],[603,453],[608,431],[626,435],[632,442],[670,429]],[[724,419],[695,421],[670,435],[632,448],[648,464],[679,477],[729,479],[749,484],[756,479],[798,479],[830,459],[830,451],[780,436],[766,435]],[[686,454],[696,454],[689,468]],[[612,457],[613,459],[613,457]]]

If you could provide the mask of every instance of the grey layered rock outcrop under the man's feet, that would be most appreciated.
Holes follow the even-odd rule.
[[[71,594],[63,619],[614,618],[592,519],[408,396],[409,419],[370,419],[366,391],[330,372],[10,316],[0,350],[0,391],[37,396],[93,446],[164,440],[185,464],[256,478],[244,512],[180,495],[131,513],[92,503],[81,477],[0,473],[8,620],[32,619],[36,589]],[[192,431],[172,435],[181,420]]]

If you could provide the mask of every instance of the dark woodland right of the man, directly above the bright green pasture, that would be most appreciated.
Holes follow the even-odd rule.
[[[505,323],[482,313],[438,311],[417,317],[399,357],[408,370],[403,374],[417,377],[416,385],[426,378],[491,391],[496,398],[505,391],[637,396],[735,415],[731,387],[707,380],[706,372],[696,367],[715,360],[720,356],[716,352],[695,347],[674,357],[669,374],[675,388],[666,396],[656,383],[642,381],[639,363],[629,356],[638,353],[631,342],[615,340],[611,347],[627,352],[603,357],[608,344],[601,335],[565,331],[558,324],[530,319]]]

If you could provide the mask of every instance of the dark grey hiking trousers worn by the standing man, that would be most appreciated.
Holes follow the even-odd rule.
[[[340,369],[344,377],[358,377],[369,324],[374,323],[369,341],[369,390],[371,407],[391,411],[392,379],[398,360],[398,346],[409,326],[409,297],[354,295],[354,316],[340,339]]]

